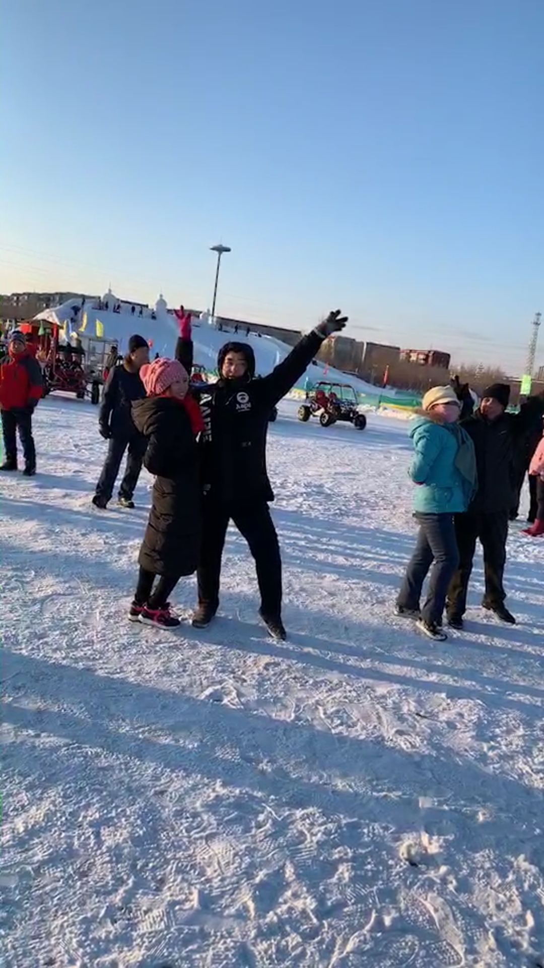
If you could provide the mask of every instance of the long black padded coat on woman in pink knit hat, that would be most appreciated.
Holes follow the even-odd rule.
[[[200,543],[198,448],[187,410],[166,397],[133,405],[147,439],[144,466],[156,475],[138,563],[156,575],[192,575]]]

